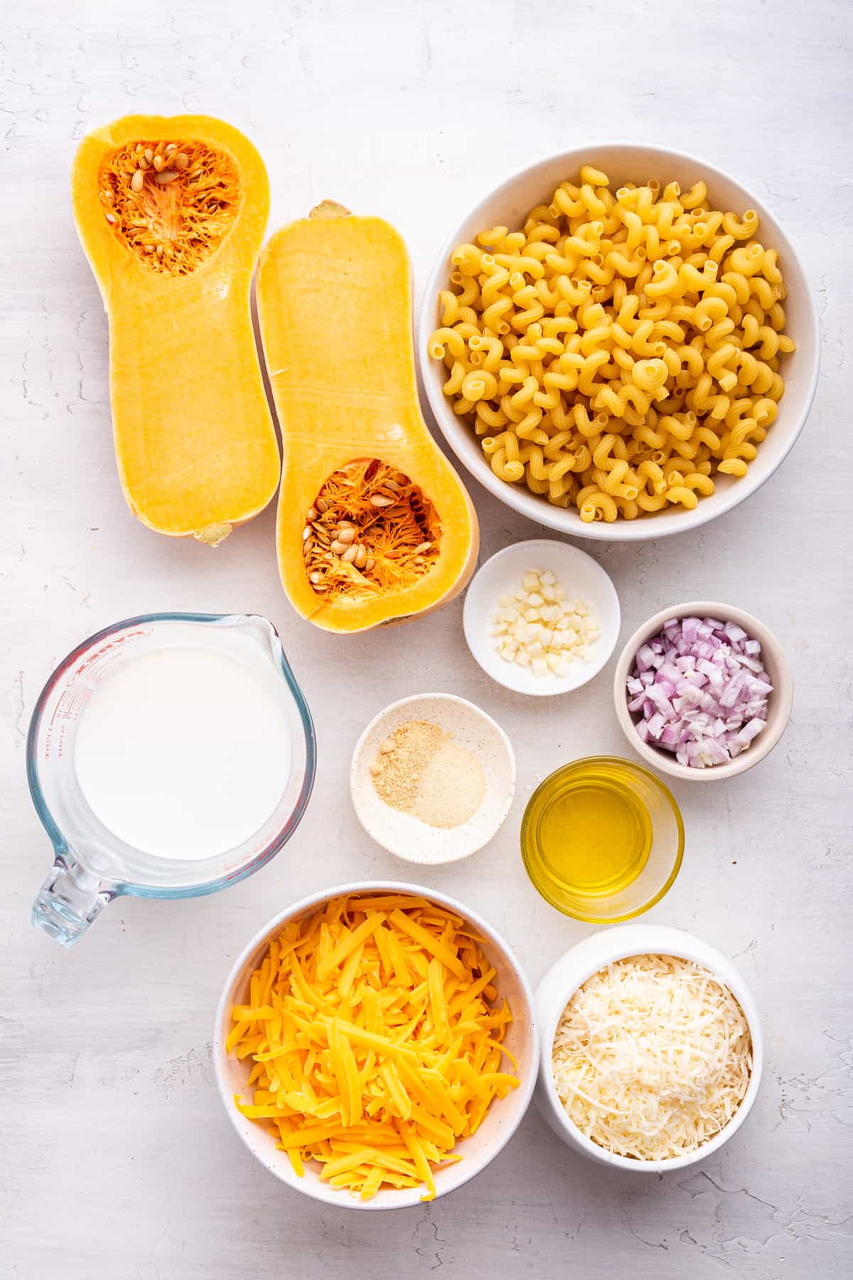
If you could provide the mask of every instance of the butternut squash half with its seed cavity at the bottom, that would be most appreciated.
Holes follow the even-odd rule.
[[[421,416],[400,236],[320,205],[261,253],[257,307],[284,447],[279,570],[297,612],[363,631],[453,599],[477,559],[477,516]]]

